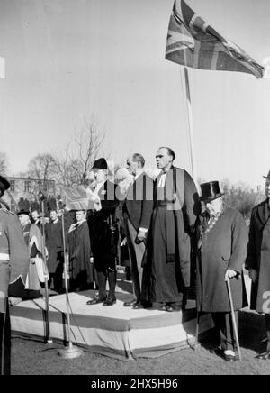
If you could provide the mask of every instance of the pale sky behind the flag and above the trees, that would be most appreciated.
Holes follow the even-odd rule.
[[[270,56],[269,0],[186,0],[259,63]],[[121,162],[157,147],[191,170],[183,68],[165,59],[173,0],[0,0],[0,151],[10,175],[58,151],[84,119]],[[252,187],[270,169],[270,79],[189,69],[195,165],[204,180]]]

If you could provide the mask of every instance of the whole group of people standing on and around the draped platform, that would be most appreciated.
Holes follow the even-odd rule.
[[[211,313],[220,332],[212,352],[226,361],[238,359],[232,319],[238,323],[238,310],[248,304],[245,267],[252,280],[250,306],[266,315],[267,348],[257,358],[270,359],[270,172],[266,201],[254,207],[248,235],[242,215],[224,203],[219,182],[201,184],[199,197],[193,178],[174,160],[172,149],[160,147],[160,172],[153,179],[143,156],[131,154],[129,181],[118,182],[108,178],[105,159],[95,160],[89,186],[93,208],[60,216],[51,210],[46,224],[37,211],[21,210],[18,221],[0,208],[1,373],[10,370],[8,303],[39,297],[46,275],[49,288],[61,293],[67,252],[69,290],[96,288],[87,305],[113,306],[119,244],[129,251],[134,295],[123,306],[177,312],[186,305],[195,275],[197,311]],[[0,177],[0,197],[8,187]]]

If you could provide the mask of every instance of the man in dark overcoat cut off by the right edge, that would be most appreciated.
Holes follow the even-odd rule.
[[[266,178],[266,200],[252,210],[246,269],[252,279],[250,308],[265,314],[267,347],[257,359],[270,359],[270,171]]]

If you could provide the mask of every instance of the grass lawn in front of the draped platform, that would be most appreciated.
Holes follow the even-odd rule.
[[[270,360],[257,361],[257,353],[263,352],[266,343],[264,317],[249,311],[239,315],[239,340],[243,361],[223,361],[211,354],[209,348],[217,344],[217,337],[204,338],[197,352],[184,349],[156,359],[140,358],[136,361],[119,361],[92,352],[74,360],[58,356],[58,344],[50,347],[44,343],[13,338],[13,375],[269,375]],[[50,348],[50,349],[49,349]]]

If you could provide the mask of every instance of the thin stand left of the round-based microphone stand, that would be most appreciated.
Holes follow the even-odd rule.
[[[44,260],[45,274],[44,274],[44,285],[45,285],[45,341],[46,343],[52,343],[50,338],[50,328],[49,328],[49,288],[48,279],[49,272],[46,262],[46,242],[45,242],[45,214],[44,214],[44,195],[40,192],[40,202],[41,202],[41,212],[42,212],[42,256]]]

